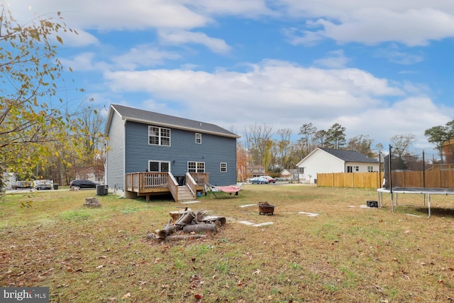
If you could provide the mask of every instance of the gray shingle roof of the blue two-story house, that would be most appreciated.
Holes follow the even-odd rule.
[[[218,136],[231,138],[240,138],[240,136],[227,131],[220,126],[201,121],[179,118],[165,114],[158,114],[153,111],[144,111],[143,109],[134,109],[132,107],[111,104],[111,109],[114,109],[122,119],[135,121],[139,123],[148,123],[155,126],[165,126],[169,128],[184,129],[187,131],[196,131],[200,133],[211,133]],[[110,117],[109,117],[110,118]],[[109,127],[109,125],[107,126]]]

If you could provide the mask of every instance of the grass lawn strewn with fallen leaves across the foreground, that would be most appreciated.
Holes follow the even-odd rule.
[[[243,186],[197,204],[98,197],[94,190],[0,199],[0,286],[50,287],[50,302],[454,302],[454,203],[373,189]],[[275,214],[258,206],[269,202]],[[31,204],[31,207],[21,205]],[[206,238],[158,243],[170,211],[225,216]],[[319,214],[309,216],[306,212]],[[248,226],[272,222],[267,226]]]

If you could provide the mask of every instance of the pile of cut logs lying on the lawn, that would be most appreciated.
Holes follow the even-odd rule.
[[[184,211],[172,211],[170,212],[171,219],[167,224],[154,233],[148,233],[147,238],[157,241],[177,241],[204,238],[206,233],[217,233],[218,228],[226,223],[226,218],[223,216],[206,216],[206,212],[203,209],[194,212],[189,208],[184,209]],[[177,232],[179,234],[174,234]]]

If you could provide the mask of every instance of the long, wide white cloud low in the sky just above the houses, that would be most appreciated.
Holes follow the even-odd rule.
[[[104,76],[119,94],[148,92],[161,100],[159,104],[184,106],[177,116],[224,127],[235,125],[240,130],[245,123],[258,122],[272,124],[275,130],[292,128],[297,133],[303,123],[329,128],[340,122],[352,136],[368,134],[365,131],[372,125],[377,133],[377,129],[388,128],[389,119],[380,115],[388,108],[387,98],[404,97],[402,89],[362,70],[322,70],[279,61],[251,65],[248,72],[148,70],[107,72]],[[426,109],[426,113],[433,110]],[[397,120],[421,124],[407,116],[410,108],[393,111]],[[357,126],[353,117],[365,125]],[[400,131],[394,129],[396,132]]]

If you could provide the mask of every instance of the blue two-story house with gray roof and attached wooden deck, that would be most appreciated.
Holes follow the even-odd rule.
[[[111,104],[106,184],[127,198],[170,192],[194,199],[207,183],[236,184],[236,139],[211,123]]]

